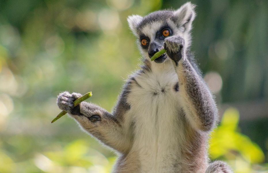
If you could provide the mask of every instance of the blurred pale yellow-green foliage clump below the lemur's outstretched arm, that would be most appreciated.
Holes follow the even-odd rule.
[[[115,157],[105,157],[84,140],[75,140],[61,151],[37,154],[35,164],[45,172],[100,172],[111,170]],[[88,168],[88,169],[87,169]]]

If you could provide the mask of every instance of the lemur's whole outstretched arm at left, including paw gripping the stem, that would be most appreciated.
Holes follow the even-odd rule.
[[[127,153],[131,147],[131,136],[129,129],[125,129],[122,117],[128,108],[119,103],[117,107],[121,106],[120,109],[115,108],[117,111],[110,114],[103,108],[85,101],[74,108],[74,100],[81,96],[78,93],[63,92],[58,96],[58,107],[68,112],[92,136],[120,153]]]

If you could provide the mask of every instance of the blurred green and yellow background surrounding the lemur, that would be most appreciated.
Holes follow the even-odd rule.
[[[60,112],[62,91],[111,110],[140,54],[126,18],[175,0],[0,0],[0,172],[109,172],[115,154]],[[193,45],[221,123],[212,160],[268,172],[268,1],[197,4]]]

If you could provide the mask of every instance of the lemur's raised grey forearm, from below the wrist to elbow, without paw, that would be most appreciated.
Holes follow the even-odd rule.
[[[197,74],[187,58],[175,65],[180,81],[183,108],[192,125],[207,131],[213,128],[217,116],[212,94],[201,76]]]

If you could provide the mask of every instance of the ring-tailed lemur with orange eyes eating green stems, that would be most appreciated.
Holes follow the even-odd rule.
[[[112,113],[87,102],[74,108],[78,93],[58,96],[60,109],[118,152],[113,172],[232,172],[208,159],[217,108],[190,52],[194,7],[128,17],[144,65],[126,81]],[[163,47],[167,53],[151,62]]]

